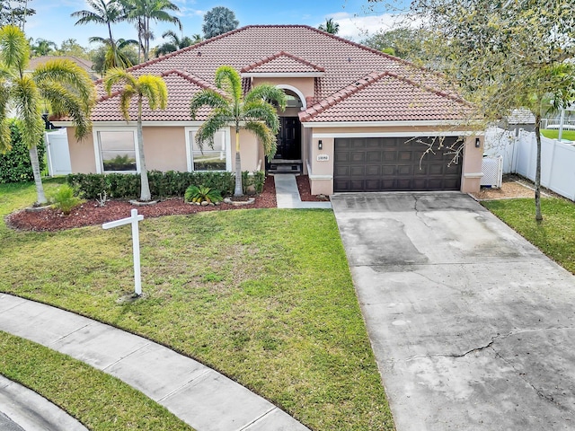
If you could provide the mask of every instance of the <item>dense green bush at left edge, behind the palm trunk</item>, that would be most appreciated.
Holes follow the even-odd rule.
[[[32,165],[30,162],[30,152],[28,147],[22,143],[20,132],[21,123],[12,120],[10,123],[10,135],[12,138],[12,149],[4,154],[0,153],[0,183],[7,182],[27,182],[34,180]],[[44,143],[38,143],[38,160],[40,162],[40,172],[45,169],[44,163]]]

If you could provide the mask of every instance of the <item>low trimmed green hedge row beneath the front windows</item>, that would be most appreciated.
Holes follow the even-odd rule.
[[[147,173],[150,191],[154,198],[182,197],[191,185],[205,186],[221,191],[223,196],[234,193],[235,176],[232,172],[160,172]],[[263,190],[264,172],[242,172],[243,192],[254,186],[257,193]],[[108,198],[137,198],[140,195],[139,174],[129,173],[73,173],[67,183],[78,189],[86,199],[100,198],[106,192]]]

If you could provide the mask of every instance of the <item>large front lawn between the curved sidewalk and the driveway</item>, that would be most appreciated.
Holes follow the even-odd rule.
[[[3,214],[34,200],[31,186],[0,196]],[[133,291],[129,227],[0,224],[0,291],[168,345],[314,430],[394,429],[331,211],[150,218],[140,238],[145,297],[119,304]]]

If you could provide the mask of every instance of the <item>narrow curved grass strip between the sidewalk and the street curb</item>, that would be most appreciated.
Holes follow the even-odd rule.
[[[33,388],[94,431],[192,430],[119,379],[2,331],[0,374]]]

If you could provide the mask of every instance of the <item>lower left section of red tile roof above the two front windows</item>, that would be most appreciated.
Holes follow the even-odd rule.
[[[197,76],[187,74],[178,70],[171,70],[161,74],[164,77],[168,87],[168,104],[166,110],[150,110],[147,103],[144,102],[142,110],[143,121],[191,121],[190,117],[190,99],[191,97],[205,89],[217,88],[198,78]],[[101,93],[102,85],[100,86]],[[102,94],[98,103],[93,110],[93,121],[125,121],[119,110],[120,91],[112,92],[111,95]],[[209,110],[199,110],[197,119],[204,120]],[[134,99],[129,108],[130,119],[137,119],[137,101]]]

